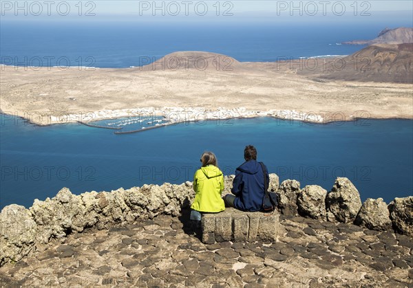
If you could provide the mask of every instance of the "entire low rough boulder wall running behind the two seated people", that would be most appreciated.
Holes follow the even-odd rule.
[[[269,188],[277,192],[278,210],[282,214],[300,214],[321,221],[354,221],[368,229],[393,229],[413,236],[413,197],[396,198],[389,206],[383,199],[368,199],[361,204],[359,192],[346,178],[337,178],[330,192],[319,186],[300,189],[295,180],[279,185],[275,174],[271,174],[270,179]],[[224,177],[223,195],[230,192],[232,180],[233,175]],[[6,206],[0,213],[0,266],[17,262],[34,250],[45,250],[52,239],[63,241],[67,234],[80,233],[86,228],[102,230],[114,223],[153,219],[160,214],[178,216],[182,208],[190,206],[193,197],[192,183],[187,181],[180,185],[144,185],[81,195],[73,195],[63,188],[52,199],[36,199],[29,209],[14,204]],[[244,220],[241,217],[234,225]],[[255,225],[248,223],[251,230]],[[231,236],[233,240],[244,237],[237,229],[233,233],[241,233]]]

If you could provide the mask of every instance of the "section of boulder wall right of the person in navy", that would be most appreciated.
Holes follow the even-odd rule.
[[[288,179],[279,185],[277,195],[278,210],[287,216],[354,223],[370,230],[413,236],[412,196],[396,198],[389,205],[382,198],[361,203],[359,191],[345,177],[338,177],[330,192],[317,185],[301,189],[299,181]]]

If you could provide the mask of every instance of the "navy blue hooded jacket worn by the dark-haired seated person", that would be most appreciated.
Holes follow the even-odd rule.
[[[264,165],[269,184],[268,170]],[[264,197],[264,174],[260,162],[250,160],[235,170],[235,179],[231,190],[235,195],[234,206],[242,211],[262,210]]]

